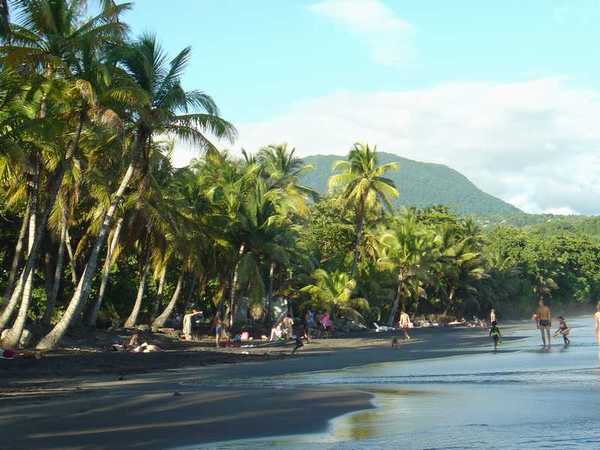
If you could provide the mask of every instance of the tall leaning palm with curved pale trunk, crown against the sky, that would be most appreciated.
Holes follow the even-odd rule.
[[[234,138],[235,129],[219,117],[218,109],[208,95],[198,91],[186,92],[182,88],[180,77],[189,55],[190,49],[186,48],[167,62],[165,53],[151,35],[143,35],[138,41],[115,50],[114,59],[122,68],[123,76],[133,80],[135,87],[144,92],[146,101],[133,109],[135,138],[128,155],[129,165],[111,197],[79,285],[61,320],[39,342],[37,348],[54,348],[78,317],[91,289],[99,252],[108,237],[117,206],[134,175],[143,173],[153,137],[171,134],[205,149],[214,148],[204,134],[207,131],[217,137]],[[197,110],[204,112],[195,112]]]

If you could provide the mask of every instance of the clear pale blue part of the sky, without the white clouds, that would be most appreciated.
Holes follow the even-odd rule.
[[[128,21],[171,53],[191,45],[185,82],[234,121],[265,119],[336,90],[563,75],[598,86],[598,1],[387,1],[413,27],[404,64],[373,64],[369,45],[305,0],[138,0]]]

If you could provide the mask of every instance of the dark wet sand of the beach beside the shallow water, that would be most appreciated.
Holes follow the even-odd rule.
[[[313,342],[285,359],[124,377],[109,372],[12,379],[0,400],[0,421],[8,431],[0,448],[165,449],[323,431],[336,416],[372,408],[372,394],[351,386],[269,387],[269,377],[489,352],[484,330],[424,329],[413,335],[399,349],[391,348],[390,337],[371,335]],[[40,388],[32,390],[36,383]],[[19,390],[20,384],[28,388]]]

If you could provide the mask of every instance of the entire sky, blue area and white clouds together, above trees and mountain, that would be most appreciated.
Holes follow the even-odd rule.
[[[600,212],[598,0],[138,0],[127,22],[192,47],[185,86],[234,149],[367,140],[527,211]]]

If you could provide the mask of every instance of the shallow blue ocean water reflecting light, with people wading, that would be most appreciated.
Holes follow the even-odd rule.
[[[599,346],[590,318],[569,325],[572,344],[556,338],[548,352],[529,323],[498,353],[250,380],[354,386],[374,394],[375,408],[338,417],[324,433],[196,448],[600,449]]]

